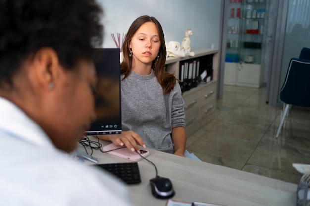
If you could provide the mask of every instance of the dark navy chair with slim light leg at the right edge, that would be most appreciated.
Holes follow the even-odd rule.
[[[280,90],[280,99],[286,104],[276,134],[279,137],[291,105],[310,107],[310,48],[303,48],[299,58],[292,58]]]

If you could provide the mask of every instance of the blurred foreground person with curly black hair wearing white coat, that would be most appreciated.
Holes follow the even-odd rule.
[[[0,0],[0,205],[128,206],[125,186],[65,154],[95,120],[95,0]]]

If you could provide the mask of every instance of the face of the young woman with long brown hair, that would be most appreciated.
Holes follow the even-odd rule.
[[[154,22],[142,24],[130,41],[133,61],[150,65],[158,56],[161,43],[157,26]]]

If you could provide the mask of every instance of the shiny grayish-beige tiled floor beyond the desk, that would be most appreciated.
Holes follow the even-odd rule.
[[[266,104],[266,87],[224,86],[215,119],[188,138],[202,161],[297,183],[292,163],[310,164],[310,110],[291,108],[275,138],[282,107]]]

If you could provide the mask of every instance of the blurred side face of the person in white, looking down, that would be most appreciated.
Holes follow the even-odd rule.
[[[60,76],[50,106],[52,126],[46,125],[45,131],[57,148],[70,152],[96,118],[96,70],[92,62],[82,60],[73,71],[62,69]]]

